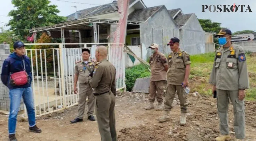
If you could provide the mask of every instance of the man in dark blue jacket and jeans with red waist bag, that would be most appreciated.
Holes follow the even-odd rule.
[[[10,141],[17,141],[15,130],[21,98],[23,98],[28,112],[29,131],[40,133],[41,129],[36,126],[34,98],[31,87],[31,64],[29,57],[25,55],[25,45],[21,41],[17,41],[14,43],[13,49],[14,53],[10,54],[2,65],[1,80],[10,90],[9,139]],[[19,79],[23,79],[22,81],[12,77],[17,73],[19,76],[24,76]]]

